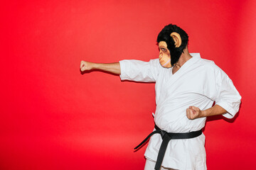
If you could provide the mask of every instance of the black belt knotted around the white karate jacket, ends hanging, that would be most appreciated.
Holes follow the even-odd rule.
[[[157,156],[157,160],[156,160],[156,166],[155,169],[159,170],[161,167],[161,163],[163,162],[164,159],[164,154],[166,152],[166,148],[167,145],[169,143],[170,140],[182,140],[182,139],[190,139],[193,137],[198,137],[202,134],[202,130],[198,130],[195,132],[186,132],[186,133],[172,133],[172,132],[166,132],[164,130],[161,130],[160,128],[158,128],[155,125],[155,129],[154,132],[151,132],[145,140],[143,140],[137,147],[135,147],[134,149],[138,149],[139,147],[141,147],[147,140],[149,140],[149,138],[151,137],[151,135],[154,135],[156,133],[159,133],[163,139],[163,141],[161,142],[161,147],[159,149],[159,154]]]

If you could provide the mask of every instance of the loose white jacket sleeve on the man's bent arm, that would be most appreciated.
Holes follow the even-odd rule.
[[[215,81],[218,94],[215,104],[228,111],[228,113],[223,114],[225,118],[233,118],[238,113],[241,96],[235,89],[232,80],[219,67],[215,69]]]

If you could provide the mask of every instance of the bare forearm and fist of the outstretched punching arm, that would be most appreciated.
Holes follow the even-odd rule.
[[[81,72],[92,70],[92,69],[100,69],[102,71],[110,72],[110,73],[113,73],[113,74],[121,74],[121,69],[120,69],[119,62],[95,63],[95,62],[81,61],[81,63],[80,63]]]

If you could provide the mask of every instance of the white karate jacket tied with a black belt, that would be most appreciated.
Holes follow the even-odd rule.
[[[161,67],[159,59],[142,62],[120,61],[122,80],[156,82],[156,111],[154,121],[166,132],[191,132],[201,130],[206,118],[189,120],[186,109],[196,106],[206,110],[215,104],[233,118],[238,112],[241,96],[233,82],[214,62],[201,59],[199,53],[193,56],[178,72],[172,74],[172,67]],[[161,146],[161,136],[153,135],[146,148],[146,159],[156,162]],[[187,140],[171,140],[167,146],[162,166],[172,169],[206,169],[205,136]]]

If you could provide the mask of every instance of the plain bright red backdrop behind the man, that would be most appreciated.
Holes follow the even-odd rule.
[[[2,2],[0,169],[144,169],[146,147],[132,148],[154,127],[154,84],[82,75],[80,60],[149,61],[169,23],[242,96],[235,119],[208,118],[208,169],[254,169],[255,8],[252,0]]]

